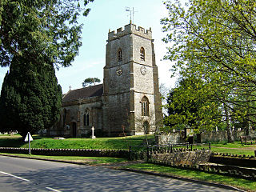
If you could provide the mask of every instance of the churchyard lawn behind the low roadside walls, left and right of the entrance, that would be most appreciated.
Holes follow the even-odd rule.
[[[106,150],[128,150],[129,146],[143,145],[145,136],[128,136],[118,138],[66,138],[64,140],[40,137],[33,135],[34,141],[30,142],[32,148],[54,148],[54,149],[106,149]],[[149,139],[154,139],[154,135],[148,135]],[[18,134],[1,135],[0,146],[5,147],[25,147],[28,148],[28,142],[23,142]],[[183,146],[184,147],[184,146]],[[206,146],[193,146],[193,148],[206,148]],[[178,147],[177,147],[178,148]],[[244,145],[240,142],[211,143],[211,150],[218,153],[246,154],[254,155],[256,145]]]

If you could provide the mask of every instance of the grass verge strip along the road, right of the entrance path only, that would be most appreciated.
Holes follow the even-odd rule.
[[[151,163],[138,163],[131,164],[128,166],[123,166],[124,168],[130,168],[134,170],[145,170],[150,172],[155,172],[159,174],[169,174],[174,176],[179,176],[182,178],[193,178],[206,182],[221,183],[228,186],[235,186],[243,190],[256,191],[256,182],[242,179],[242,178],[232,178],[227,176],[222,176],[218,174],[209,174],[196,170],[183,170],[170,166],[158,166]]]

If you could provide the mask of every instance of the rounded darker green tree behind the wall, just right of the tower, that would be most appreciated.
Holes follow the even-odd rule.
[[[222,118],[219,104],[211,101],[206,92],[206,84],[194,76],[180,79],[178,86],[170,91],[164,107],[168,115],[162,130],[167,132],[185,127],[194,128],[195,133],[213,130]]]

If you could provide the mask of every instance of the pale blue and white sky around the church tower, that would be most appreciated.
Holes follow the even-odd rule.
[[[170,78],[169,71],[171,62],[162,60],[168,46],[162,42],[166,34],[162,32],[160,19],[167,17],[162,0],[94,0],[88,7],[91,8],[90,14],[79,18],[79,22],[83,23],[79,55],[72,66],[56,70],[63,94],[70,90],[70,86],[71,90],[82,88],[82,82],[86,78],[99,78],[103,81],[108,33],[109,30],[116,31],[130,23],[130,12],[126,11],[126,7],[134,7],[133,23],[137,27],[142,26],[146,30],[151,27],[159,84],[163,83],[167,88],[174,87],[175,78]],[[8,67],[0,69],[0,86],[7,70]]]

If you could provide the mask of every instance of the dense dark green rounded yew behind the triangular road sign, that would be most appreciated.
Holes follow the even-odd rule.
[[[58,122],[62,101],[54,67],[26,62],[13,58],[0,97],[1,132],[18,130],[23,138]]]

